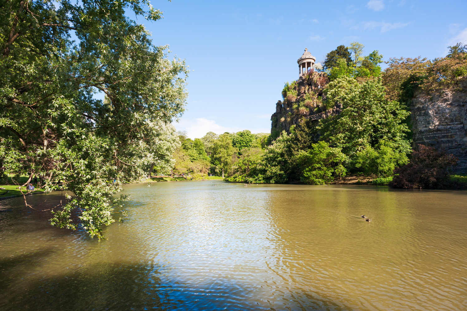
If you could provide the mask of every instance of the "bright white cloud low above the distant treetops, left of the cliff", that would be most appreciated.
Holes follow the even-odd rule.
[[[271,116],[269,115],[269,118]],[[188,137],[191,139],[201,138],[207,132],[214,132],[216,134],[223,134],[225,132],[239,132],[245,128],[240,127],[223,127],[216,123],[214,120],[208,120],[204,118],[198,119],[181,119],[178,123],[175,123],[174,126],[177,130],[187,131]],[[252,133],[269,133],[269,128],[247,128]]]

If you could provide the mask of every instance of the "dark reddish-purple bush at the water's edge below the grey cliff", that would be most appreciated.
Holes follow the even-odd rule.
[[[389,186],[393,188],[444,189],[459,187],[451,179],[450,171],[457,166],[457,158],[447,155],[446,151],[437,152],[432,147],[418,145],[418,151],[412,152],[410,163],[394,170]]]

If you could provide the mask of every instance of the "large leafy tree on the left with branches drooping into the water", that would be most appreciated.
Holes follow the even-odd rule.
[[[54,209],[54,226],[81,225],[101,238],[120,184],[147,176],[153,122],[184,111],[184,61],[169,60],[167,47],[125,16],[162,17],[144,5],[5,1],[0,9],[1,171],[29,181],[37,174],[46,191],[74,193]],[[104,100],[94,99],[96,89]]]

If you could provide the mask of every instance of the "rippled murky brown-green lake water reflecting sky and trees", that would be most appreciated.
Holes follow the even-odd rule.
[[[219,181],[125,192],[129,217],[100,242],[50,227],[22,198],[0,201],[0,309],[467,310],[467,192]]]

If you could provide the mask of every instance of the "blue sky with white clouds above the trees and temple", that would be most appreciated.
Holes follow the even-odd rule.
[[[308,48],[318,61],[358,41],[365,55],[442,57],[467,43],[467,1],[186,1],[152,2],[164,18],[148,22],[156,45],[192,70],[188,105],[174,122],[191,138],[249,129],[270,131],[270,116],[297,59]]]

